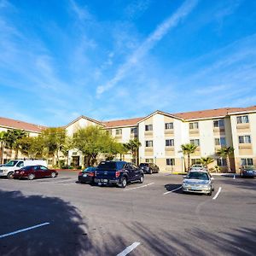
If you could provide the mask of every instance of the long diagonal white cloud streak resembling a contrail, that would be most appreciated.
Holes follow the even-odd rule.
[[[125,74],[140,61],[144,55],[148,53],[150,49],[154,47],[157,42],[163,38],[167,32],[174,26],[177,26],[178,22],[184,17],[189,15],[192,9],[195,8],[197,1],[186,1],[183,5],[177,9],[177,12],[171,15],[167,20],[158,26],[154,32],[152,32],[148,38],[141,44],[127,59],[127,61],[119,67],[113,79],[110,79],[106,84],[100,85],[96,89],[96,95],[101,96],[106,90],[111,89],[115,84],[119,83],[121,79],[125,77]]]

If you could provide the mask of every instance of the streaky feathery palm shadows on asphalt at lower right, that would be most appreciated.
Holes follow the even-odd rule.
[[[172,230],[172,226],[170,232],[155,232],[139,223],[126,225],[126,228],[141,238],[142,246],[148,247],[152,255],[255,255],[256,230],[253,229],[214,234],[197,228]]]

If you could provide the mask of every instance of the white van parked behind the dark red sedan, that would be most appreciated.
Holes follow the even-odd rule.
[[[0,177],[12,178],[15,170],[24,166],[45,166],[47,167],[46,160],[10,160],[7,164],[0,167]]]

